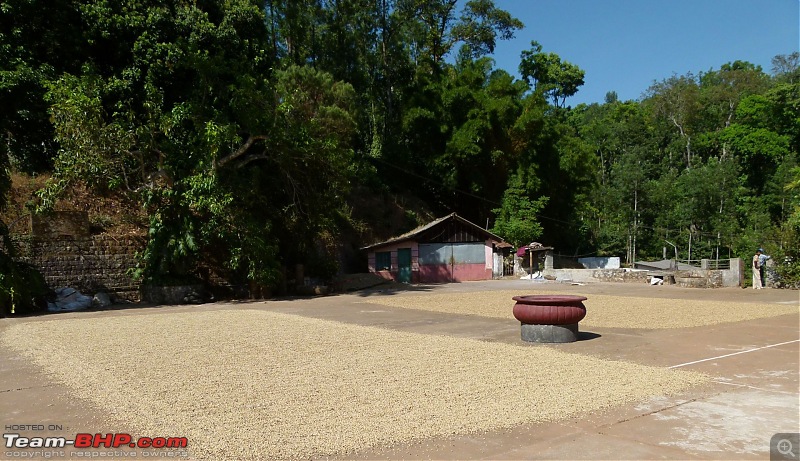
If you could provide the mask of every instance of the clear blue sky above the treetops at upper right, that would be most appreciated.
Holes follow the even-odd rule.
[[[586,71],[568,105],[606,92],[639,99],[653,83],[742,60],[771,72],[771,60],[800,48],[800,0],[495,0],[525,24],[499,41],[495,67],[519,76],[519,54],[545,52]]]

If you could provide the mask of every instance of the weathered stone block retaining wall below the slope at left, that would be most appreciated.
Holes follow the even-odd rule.
[[[20,260],[42,273],[50,288],[72,287],[83,293],[105,291],[118,299],[139,300],[139,283],[129,275],[143,237],[16,236]]]

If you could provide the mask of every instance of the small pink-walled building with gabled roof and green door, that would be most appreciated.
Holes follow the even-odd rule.
[[[369,271],[403,283],[492,278],[494,246],[503,239],[455,213],[385,242],[366,246]]]

